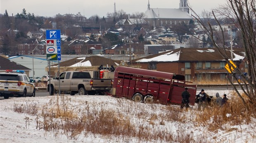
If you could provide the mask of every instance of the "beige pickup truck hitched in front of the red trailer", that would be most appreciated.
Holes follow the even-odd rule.
[[[50,95],[70,93],[70,95],[104,94],[112,89],[111,78],[92,78],[89,71],[64,71],[59,77],[47,82]],[[96,76],[97,77],[97,76]]]

